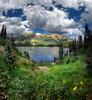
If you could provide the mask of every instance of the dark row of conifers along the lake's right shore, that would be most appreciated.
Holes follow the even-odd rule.
[[[86,62],[88,66],[92,66],[92,31],[89,29],[88,24],[85,25],[85,31],[83,35],[79,35],[78,39],[73,39],[68,43],[68,51],[66,55],[74,54],[77,55],[79,52],[86,54]],[[62,45],[59,50],[60,60],[64,57],[64,46]]]

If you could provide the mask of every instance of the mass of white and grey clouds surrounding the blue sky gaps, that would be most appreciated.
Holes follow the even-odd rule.
[[[64,8],[80,9],[80,6],[85,7],[85,12],[81,14],[80,21],[92,22],[92,1],[91,0],[54,0],[57,4]],[[78,23],[74,19],[69,19],[68,12],[63,9],[57,9],[53,4],[53,0],[0,0],[0,26],[6,24],[8,33],[22,33],[30,28],[44,28],[49,32],[62,32],[66,30],[68,33],[81,34],[78,28]],[[32,6],[31,4],[34,4]],[[45,7],[53,7],[53,11],[46,10]],[[7,18],[2,15],[3,11],[8,9],[21,8],[26,21],[21,18]]]

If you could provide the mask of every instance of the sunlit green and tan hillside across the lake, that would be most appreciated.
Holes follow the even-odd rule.
[[[17,45],[43,45],[43,46],[56,46],[66,43],[68,40],[59,34],[30,34],[16,40]]]

